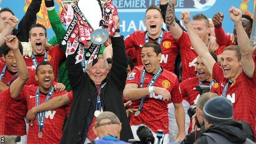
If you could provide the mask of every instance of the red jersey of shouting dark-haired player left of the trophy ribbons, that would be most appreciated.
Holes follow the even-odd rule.
[[[44,60],[44,54],[43,55],[35,55],[37,59],[37,64],[40,64]],[[65,53],[61,48],[59,48],[59,45],[54,46],[51,50],[47,52],[47,61],[51,64],[53,67],[53,73],[54,73],[54,81],[57,82],[57,72],[59,69],[59,62],[65,57]],[[31,66],[35,68],[32,59],[30,57],[23,57],[27,66]]]

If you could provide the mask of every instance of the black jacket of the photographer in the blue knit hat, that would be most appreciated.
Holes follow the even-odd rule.
[[[242,130],[241,123],[237,121],[226,121],[222,123],[215,123],[210,126],[203,134],[201,134],[194,144],[208,144],[207,140],[210,138],[207,135],[208,133],[218,134],[217,136],[220,137],[214,140],[221,142],[228,140],[228,142],[232,144],[244,144],[247,141],[251,141],[247,139],[246,133]]]

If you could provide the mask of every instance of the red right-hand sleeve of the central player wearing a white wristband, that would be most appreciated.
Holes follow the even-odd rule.
[[[171,101],[173,103],[181,103],[183,101],[183,98],[181,96],[180,90],[179,90],[179,82],[178,78],[176,77],[174,87],[171,90]]]

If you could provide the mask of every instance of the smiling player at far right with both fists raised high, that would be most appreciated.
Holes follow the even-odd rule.
[[[221,85],[218,95],[226,97],[233,103],[233,119],[242,120],[251,126],[255,135],[255,64],[251,56],[248,36],[242,26],[242,11],[235,7],[229,9],[229,16],[235,23],[238,46],[228,46],[222,53],[221,66],[210,56],[190,23],[190,13],[183,11],[181,18],[187,28],[191,43],[206,65],[209,73]]]

